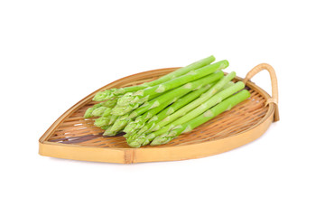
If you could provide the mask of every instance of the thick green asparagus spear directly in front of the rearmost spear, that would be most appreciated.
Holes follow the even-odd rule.
[[[178,78],[168,80],[164,83],[149,87],[144,90],[138,90],[133,93],[131,96],[129,94],[122,96],[117,99],[117,105],[127,106],[129,104],[134,104],[140,99],[147,100],[149,97],[158,96],[165,91],[172,90],[174,88],[180,87],[183,84],[186,84],[192,80],[198,80],[204,76],[207,76],[214,71],[219,71],[228,67],[228,61],[218,61],[216,63],[204,66],[195,71],[190,71],[189,73],[182,75]]]

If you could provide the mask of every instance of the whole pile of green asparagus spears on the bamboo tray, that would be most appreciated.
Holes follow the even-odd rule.
[[[236,73],[224,76],[228,61],[213,61],[209,56],[158,80],[100,91],[84,117],[96,118],[94,125],[105,129],[104,136],[125,132],[129,146],[164,144],[246,99],[234,95],[245,87],[230,81]]]

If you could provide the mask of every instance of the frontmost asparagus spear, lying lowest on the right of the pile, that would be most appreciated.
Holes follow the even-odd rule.
[[[236,106],[238,103],[248,99],[250,97],[250,93],[248,90],[241,90],[237,94],[229,97],[228,99],[223,100],[217,106],[207,110],[203,114],[201,114],[197,118],[191,119],[189,122],[185,122],[181,125],[173,127],[171,131],[153,139],[153,142],[150,144],[151,146],[158,146],[162,144],[166,144],[171,141],[174,137],[178,137],[182,133],[190,132],[195,127],[199,127],[200,125],[206,123],[211,118],[215,118],[222,112],[229,110]]]

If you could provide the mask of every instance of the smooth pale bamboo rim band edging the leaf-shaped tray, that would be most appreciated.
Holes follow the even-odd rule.
[[[269,107],[269,109],[265,114],[265,117],[262,118],[259,122],[257,122],[254,126],[247,128],[245,131],[234,134],[230,137],[223,137],[223,138],[206,141],[202,143],[190,144],[187,146],[157,146],[156,148],[132,148],[132,147],[117,148],[117,147],[100,147],[100,146],[79,146],[77,144],[60,144],[56,142],[46,141],[49,137],[51,137],[51,133],[55,131],[55,128],[60,126],[60,123],[67,116],[69,116],[72,111],[74,111],[75,109],[79,109],[79,107],[83,106],[84,103],[89,99],[92,99],[94,94],[97,93],[98,91],[111,88],[112,86],[122,85],[124,80],[127,78],[137,76],[137,79],[141,79],[143,77],[146,77],[148,73],[153,71],[160,71],[161,73],[163,73],[163,71],[173,71],[178,68],[180,67],[163,68],[163,69],[157,69],[152,71],[143,71],[143,72],[135,73],[129,76],[125,76],[124,78],[121,78],[119,80],[110,82],[107,85],[103,86],[102,88],[88,94],[88,96],[86,96],[83,99],[80,99],[70,109],[65,111],[59,118],[57,118],[57,120],[53,122],[51,127],[49,127],[45,131],[42,137],[40,137],[39,154],[41,156],[52,156],[52,157],[73,159],[73,160],[122,163],[122,164],[193,159],[193,158],[200,158],[204,156],[217,155],[229,151],[231,149],[234,149],[238,146],[246,145],[247,143],[254,141],[256,138],[261,137],[265,133],[267,128],[271,125],[271,123],[274,121],[274,111],[276,109],[275,108],[276,105],[274,105],[274,103],[270,103],[265,105]],[[236,80],[246,81],[246,85],[253,87],[263,96],[265,96],[266,99],[272,99],[265,90],[257,86],[254,82],[250,80],[242,79],[238,76],[236,76]],[[255,131],[255,133],[252,134],[253,132],[252,130]],[[228,145],[226,147],[222,147],[222,144],[224,145],[225,143],[227,143]],[[186,149],[189,148],[190,150],[193,148],[195,149],[196,146],[200,146],[201,147],[200,150],[203,150],[201,151],[202,153],[200,153],[200,155],[197,155],[198,154],[197,151],[195,151],[194,153],[193,150],[190,151],[190,153],[189,151],[186,151]],[[216,149],[216,147],[218,148]],[[211,148],[216,149],[216,151],[210,151]],[[169,153],[168,157],[157,155],[157,150],[159,150],[158,152],[161,152],[162,154],[163,152]],[[204,150],[208,150],[208,152],[207,151],[204,152]],[[84,153],[85,151],[86,153]],[[181,154],[181,152],[184,151],[185,153],[180,157],[179,154]],[[154,154],[154,152],[156,152],[156,154]]]

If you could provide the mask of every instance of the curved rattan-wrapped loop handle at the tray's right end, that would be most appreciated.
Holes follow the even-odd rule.
[[[279,107],[278,107],[278,100],[279,100],[278,85],[277,85],[277,79],[276,79],[274,68],[267,63],[261,63],[259,65],[256,65],[251,71],[249,71],[246,74],[246,78],[243,81],[244,83],[246,83],[247,80],[252,79],[255,76],[255,74],[264,70],[268,71],[270,74],[271,87],[272,87],[272,97],[266,100],[265,106],[267,106],[270,103],[274,104],[274,122],[276,122],[280,119],[280,116],[279,116]]]

